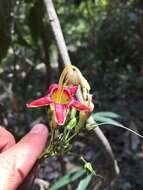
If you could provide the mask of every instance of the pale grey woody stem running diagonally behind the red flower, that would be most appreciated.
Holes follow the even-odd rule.
[[[44,0],[45,3],[45,7],[47,10],[47,14],[49,16],[49,21],[61,54],[61,58],[63,60],[63,63],[65,66],[71,64],[70,61],[70,57],[68,55],[68,51],[67,51],[67,47],[65,44],[65,40],[64,40],[64,36],[62,33],[62,29],[60,26],[60,22],[59,19],[57,17],[56,14],[56,10],[53,4],[52,0]],[[81,91],[78,92],[78,98],[79,100],[82,101],[82,94]],[[88,120],[89,123],[95,123],[93,117],[91,116]],[[101,131],[101,129],[99,129],[98,127],[95,129],[95,134],[96,137],[98,138],[98,140],[100,141],[102,147],[105,150],[105,155],[107,156],[107,161],[109,162],[108,166],[108,182],[111,182],[118,174],[119,174],[119,168],[117,165],[117,162],[115,160],[114,154],[112,152],[112,148],[108,142],[108,140],[106,139],[106,137],[104,136],[103,132]]]

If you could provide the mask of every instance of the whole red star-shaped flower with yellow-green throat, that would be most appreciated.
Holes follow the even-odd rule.
[[[50,105],[53,110],[55,122],[59,126],[64,125],[70,107],[74,107],[77,110],[82,110],[85,112],[91,111],[89,106],[76,100],[74,97],[76,91],[77,86],[61,87],[58,84],[52,84],[49,87],[47,95],[26,104],[26,106],[28,108],[33,108]]]

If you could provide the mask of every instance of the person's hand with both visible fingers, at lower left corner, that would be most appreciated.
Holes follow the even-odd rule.
[[[0,127],[0,190],[28,189],[27,176],[44,150],[47,138],[48,130],[43,124],[35,125],[18,143]]]

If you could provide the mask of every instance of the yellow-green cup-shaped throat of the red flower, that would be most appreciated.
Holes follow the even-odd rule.
[[[52,93],[51,99],[58,104],[68,104],[70,98],[63,89],[57,89]]]

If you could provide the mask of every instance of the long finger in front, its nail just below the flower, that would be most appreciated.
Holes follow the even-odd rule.
[[[6,171],[6,175],[10,175],[10,178],[7,177],[7,184],[10,184],[10,190],[16,189],[27,176],[43,151],[47,136],[47,127],[38,124],[19,143],[1,154],[2,160],[7,159],[6,165],[12,166],[14,163],[12,172],[9,170],[7,173]],[[8,168],[8,166],[5,168]]]

